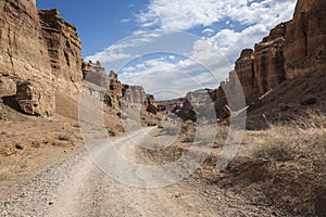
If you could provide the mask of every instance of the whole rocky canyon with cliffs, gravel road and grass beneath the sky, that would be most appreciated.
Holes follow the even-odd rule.
[[[293,18],[242,50],[216,89],[156,101],[99,61],[85,62],[77,27],[59,10],[39,10],[36,0],[1,0],[0,214],[325,216],[325,0],[298,0]],[[89,107],[83,107],[88,97]],[[234,139],[228,123],[243,111],[249,130],[237,155],[216,170]],[[205,113],[214,116],[200,123]],[[203,130],[196,129],[198,123]],[[205,128],[210,124],[214,130]],[[90,146],[85,128],[93,139]],[[215,128],[212,146],[205,137],[195,141]],[[211,152],[178,183],[138,189],[95,164],[90,151],[101,164],[116,159],[108,138],[130,162],[148,167],[174,163],[185,153],[193,159],[208,146]],[[166,141],[173,144],[162,146]],[[145,187],[174,173],[162,178],[118,163],[122,175],[131,170]]]

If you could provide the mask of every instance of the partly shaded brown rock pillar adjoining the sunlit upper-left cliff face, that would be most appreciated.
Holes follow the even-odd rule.
[[[82,79],[82,44],[77,28],[60,17],[59,10],[39,10],[41,34],[48,44],[52,75],[64,87],[74,91]]]

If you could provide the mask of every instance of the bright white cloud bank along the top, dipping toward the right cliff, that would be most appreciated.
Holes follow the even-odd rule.
[[[167,31],[208,27],[202,34],[208,34],[234,62],[242,49],[252,48],[271,28],[290,20],[294,4],[296,0],[151,0],[137,17],[142,27]],[[231,25],[215,36],[210,35],[213,33],[211,26],[222,25],[218,22]],[[237,31],[235,27],[241,30]]]

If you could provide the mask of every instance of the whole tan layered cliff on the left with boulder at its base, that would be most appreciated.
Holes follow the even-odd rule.
[[[52,95],[38,100],[36,112],[36,108],[32,110],[34,105],[27,103],[33,103],[38,93],[33,92],[30,100],[30,95],[21,94],[23,90],[18,89],[16,99],[25,101],[24,105],[18,103],[22,110],[30,107],[25,111],[30,115],[53,114],[55,92],[76,93],[82,81],[80,42],[76,28],[60,18],[57,10],[38,11],[35,0],[1,1],[0,13],[0,80],[15,84],[7,85],[0,94],[15,94],[16,84],[29,82],[26,91],[33,87],[38,93]]]

